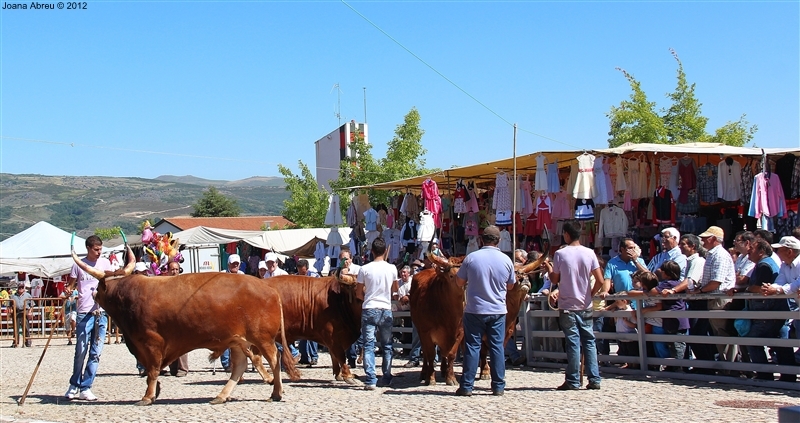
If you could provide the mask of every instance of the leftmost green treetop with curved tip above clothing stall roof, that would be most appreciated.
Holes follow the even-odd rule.
[[[630,100],[622,101],[619,107],[611,106],[606,114],[611,130],[608,132],[608,146],[618,147],[627,142],[663,144],[667,142],[667,130],[664,120],[656,112],[656,103],[647,100],[641,83],[625,71],[616,68],[625,75],[631,85]]]

